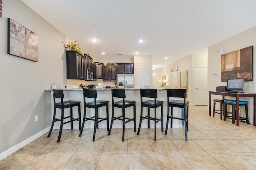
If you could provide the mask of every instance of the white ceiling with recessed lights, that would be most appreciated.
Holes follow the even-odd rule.
[[[158,67],[256,26],[256,0],[22,1],[92,57],[138,51]]]

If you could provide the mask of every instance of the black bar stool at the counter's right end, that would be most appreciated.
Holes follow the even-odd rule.
[[[166,92],[167,92],[168,108],[167,108],[166,129],[165,129],[164,135],[167,134],[169,119],[171,119],[171,128],[172,128],[172,119],[178,119],[178,120],[184,121],[185,139],[186,139],[186,141],[188,141],[187,132],[188,132],[188,103],[189,103],[189,101],[186,101],[187,90],[186,89],[166,89]],[[182,100],[170,100],[169,97],[183,98],[183,101]],[[170,107],[171,107],[171,115],[170,115]],[[184,118],[173,117],[172,116],[173,107],[178,107],[178,108],[184,109]]]

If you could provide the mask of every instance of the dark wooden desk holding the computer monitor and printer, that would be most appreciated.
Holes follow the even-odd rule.
[[[256,126],[256,93],[228,93],[221,91],[209,91],[209,116],[211,115],[211,95],[236,97],[236,108],[239,108],[239,97],[253,97],[253,125]],[[236,126],[239,126],[239,109],[236,109]]]

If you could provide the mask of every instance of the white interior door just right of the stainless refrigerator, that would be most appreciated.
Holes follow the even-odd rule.
[[[144,85],[150,85],[149,69],[138,69],[138,89],[144,89]]]

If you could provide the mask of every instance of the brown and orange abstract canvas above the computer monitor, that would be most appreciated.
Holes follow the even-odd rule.
[[[221,55],[221,81],[231,78],[253,81],[253,46]]]

